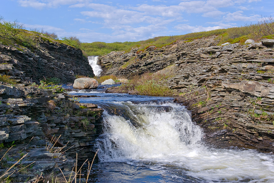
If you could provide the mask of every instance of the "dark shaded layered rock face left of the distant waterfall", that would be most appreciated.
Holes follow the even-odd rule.
[[[38,38],[37,38],[38,39]],[[73,82],[75,75],[93,77],[93,70],[82,51],[59,42],[39,38],[35,50],[0,44],[1,64],[12,64],[11,78],[18,81],[39,82],[45,78],[59,78],[62,83]]]

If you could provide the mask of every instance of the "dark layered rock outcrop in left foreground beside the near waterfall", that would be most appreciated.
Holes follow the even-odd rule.
[[[16,144],[1,163],[9,167],[15,159],[23,157],[21,164],[31,165],[25,170],[27,173],[12,175],[15,182],[33,182],[37,175],[43,173],[45,177],[52,172],[54,177],[62,178],[59,168],[63,173],[71,173],[76,153],[78,161],[91,161],[95,154],[93,145],[102,133],[103,109],[91,103],[74,102],[69,99],[72,96],[54,92],[0,86],[0,153]]]

